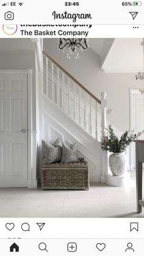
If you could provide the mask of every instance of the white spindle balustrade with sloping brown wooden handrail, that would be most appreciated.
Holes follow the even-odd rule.
[[[44,70],[45,95],[87,133],[98,139],[97,106],[101,101],[45,55]]]

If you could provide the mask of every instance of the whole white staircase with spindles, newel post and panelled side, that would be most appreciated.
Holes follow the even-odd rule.
[[[107,152],[100,147],[106,128],[106,93],[101,101],[43,52],[44,139],[77,142],[90,166],[90,180],[105,182]]]

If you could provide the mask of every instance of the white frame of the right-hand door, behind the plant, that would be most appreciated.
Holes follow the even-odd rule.
[[[134,128],[134,112],[133,112],[133,103],[134,103],[134,94],[141,94],[140,89],[129,89],[129,94],[130,94],[130,130]],[[133,142],[134,143],[134,142]],[[134,170],[134,147],[132,144],[130,144],[130,169]]]

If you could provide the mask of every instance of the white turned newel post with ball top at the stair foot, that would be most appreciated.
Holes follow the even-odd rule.
[[[101,139],[106,133],[107,119],[106,119],[106,110],[107,110],[107,93],[101,93]],[[101,183],[106,182],[106,174],[108,173],[108,154],[107,151],[101,150]]]

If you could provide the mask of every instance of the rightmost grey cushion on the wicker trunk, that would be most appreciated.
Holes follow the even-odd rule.
[[[61,163],[75,163],[77,161],[78,159],[76,143],[71,145],[71,147],[68,147],[68,145],[63,142]]]

